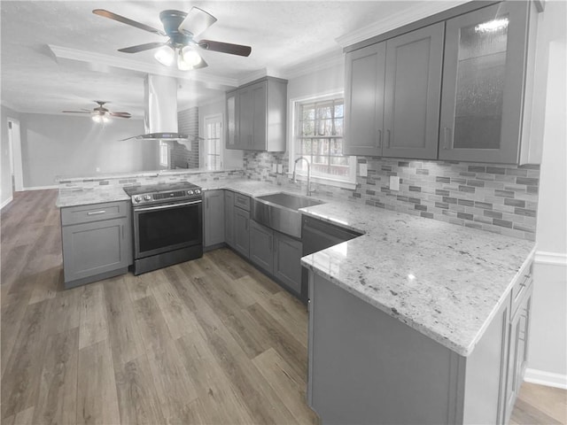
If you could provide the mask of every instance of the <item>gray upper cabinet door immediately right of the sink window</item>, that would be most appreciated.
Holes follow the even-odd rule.
[[[346,54],[346,155],[382,154],[385,57],[385,42]]]

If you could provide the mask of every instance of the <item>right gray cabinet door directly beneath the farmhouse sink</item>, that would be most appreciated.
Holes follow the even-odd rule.
[[[302,243],[274,232],[274,275],[298,295],[301,293]]]

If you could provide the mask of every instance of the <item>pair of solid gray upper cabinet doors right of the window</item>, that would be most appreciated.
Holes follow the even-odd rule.
[[[346,55],[346,154],[437,158],[444,23]]]

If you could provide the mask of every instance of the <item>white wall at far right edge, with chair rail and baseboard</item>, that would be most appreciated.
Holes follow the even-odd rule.
[[[526,380],[567,388],[567,36],[565,2],[540,14],[532,137],[543,140]]]

